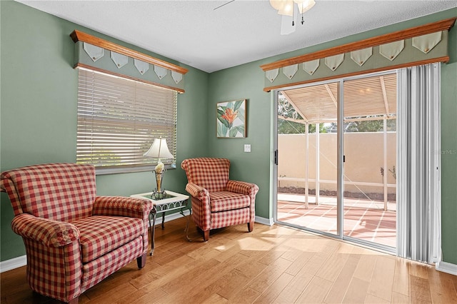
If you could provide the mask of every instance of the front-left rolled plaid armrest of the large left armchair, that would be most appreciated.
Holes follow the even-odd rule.
[[[60,247],[79,240],[79,230],[71,223],[37,218],[28,213],[15,216],[11,222],[14,233],[47,247]]]

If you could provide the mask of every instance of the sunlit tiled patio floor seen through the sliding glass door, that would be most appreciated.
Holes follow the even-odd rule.
[[[278,221],[336,234],[336,197],[278,194]],[[396,247],[396,203],[344,198],[343,234],[373,243]]]

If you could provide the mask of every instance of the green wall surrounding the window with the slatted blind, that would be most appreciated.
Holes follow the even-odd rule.
[[[76,161],[76,102],[78,71],[73,69],[74,42],[69,34],[79,29],[94,36],[142,51],[90,29],[45,14],[24,4],[0,1],[1,92],[0,171],[36,163]],[[205,156],[206,104],[209,74],[185,66],[186,93],[178,96],[177,164],[166,174],[165,186],[184,191],[186,174],[179,164],[184,158]],[[196,113],[191,116],[189,113]],[[151,172],[97,176],[99,195],[130,196],[150,191]],[[13,212],[5,193],[0,196],[0,258],[25,254],[21,238],[11,230]]]

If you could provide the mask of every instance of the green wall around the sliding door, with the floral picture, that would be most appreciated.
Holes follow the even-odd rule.
[[[232,177],[257,183],[260,191],[256,199],[256,215],[272,215],[269,195],[272,163],[272,93],[264,93],[264,74],[259,66],[293,56],[312,53],[353,41],[388,34],[434,21],[457,16],[457,9],[393,24],[381,29],[344,37],[306,49],[273,56],[261,61],[217,71],[209,76],[209,149],[211,156],[228,156],[236,160]],[[457,27],[457,26],[456,26]],[[457,29],[449,32],[451,61],[442,65],[441,76],[441,146],[442,146],[442,250],[443,261],[457,264]],[[272,41],[272,43],[274,43]],[[233,99],[248,99],[248,137],[243,139],[216,138],[216,103]],[[243,144],[251,143],[252,153],[243,153]]]

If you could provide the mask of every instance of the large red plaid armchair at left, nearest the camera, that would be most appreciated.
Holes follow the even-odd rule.
[[[36,293],[77,303],[85,290],[136,259],[146,263],[148,216],[138,198],[96,196],[95,168],[52,163],[1,173]]]

